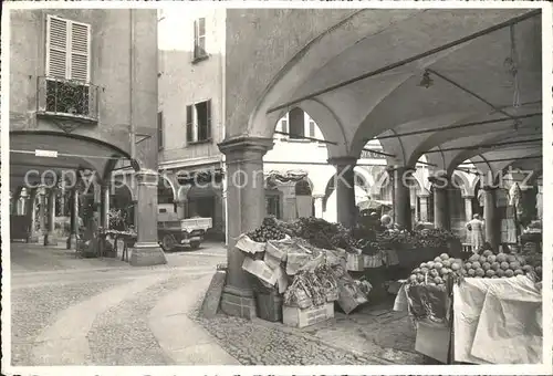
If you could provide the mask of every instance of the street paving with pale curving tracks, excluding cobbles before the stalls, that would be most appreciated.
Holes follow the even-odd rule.
[[[238,364],[188,317],[225,261],[220,249],[154,268],[65,253],[12,244],[13,365]]]

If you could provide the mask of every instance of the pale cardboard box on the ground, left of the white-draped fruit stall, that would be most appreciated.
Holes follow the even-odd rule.
[[[450,335],[451,331],[445,324],[418,321],[415,351],[447,364]]]

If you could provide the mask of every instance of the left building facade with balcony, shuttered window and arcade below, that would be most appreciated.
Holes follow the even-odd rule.
[[[150,188],[158,165],[156,11],[10,10],[10,190],[13,200],[25,194],[31,230],[54,242],[55,218],[71,217],[67,247],[74,247],[79,218],[88,216],[86,198],[107,226],[114,170],[135,170],[125,184],[137,206],[134,262],[165,262],[150,213],[157,207]],[[85,175],[92,179],[83,190],[76,181]],[[56,202],[67,191],[71,209],[60,212]]]

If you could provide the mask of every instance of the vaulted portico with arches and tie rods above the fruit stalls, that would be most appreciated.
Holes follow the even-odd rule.
[[[275,20],[269,21],[269,13]],[[323,14],[285,13],[288,22],[300,13],[303,18]],[[272,35],[270,28],[284,18],[280,11],[255,15],[255,24],[263,23],[257,32],[258,38]],[[471,91],[500,106],[512,103],[513,87],[504,85],[509,73],[498,69],[511,55],[510,25],[515,25],[515,39],[528,41],[519,50],[522,58],[517,61],[518,80],[525,83],[519,87],[518,94],[523,102],[533,101],[531,94],[541,93],[541,56],[535,53],[540,51],[541,24],[536,15],[538,12],[522,9],[362,10],[328,13],[305,32],[294,29],[298,38],[284,53],[279,50],[280,55],[276,50],[261,48],[255,42],[248,45],[237,42],[236,49],[228,50],[228,58],[237,58],[240,69],[231,72],[227,87],[234,87],[240,96],[227,101],[227,108],[232,111],[227,114],[227,137],[220,149],[227,156],[229,175],[241,171],[250,184],[244,187],[229,185],[229,203],[232,200],[236,206],[236,210],[229,207],[229,212],[239,217],[232,222],[232,229],[229,227],[229,239],[261,222],[263,210],[252,207],[263,207],[263,189],[254,187],[254,184],[260,184],[254,176],[255,169],[262,169],[262,156],[272,147],[274,124],[283,111],[292,107],[307,111],[325,139],[335,143],[328,147],[328,163],[336,166],[336,174],[343,177],[336,187],[337,207],[344,208],[338,220],[351,223],[347,211],[355,206],[353,167],[366,143],[380,137],[389,154],[387,159],[394,176],[397,221],[410,228],[410,191],[401,177],[415,167],[409,161],[418,161],[427,152],[425,148],[434,147],[434,144],[420,146],[427,137],[408,139],[401,136],[401,132],[427,127],[438,130],[445,124],[489,115],[489,104],[476,100],[440,75],[470,86]],[[254,15],[250,12],[243,18]],[[233,15],[230,14],[229,19],[233,20]],[[368,19],[372,22],[361,22]],[[309,22],[303,21],[300,30],[303,30],[303,24]],[[353,28],[354,24],[357,27]],[[241,32],[249,28],[244,25]],[[282,36],[288,40],[288,36]],[[470,38],[463,39],[466,36]],[[273,41],[271,38],[268,40]],[[463,42],[459,42],[461,39]],[[264,56],[268,63],[255,63],[259,72],[255,80],[247,77],[244,72],[251,64],[242,56],[249,51],[254,53],[263,49],[269,50]],[[434,143],[441,147],[446,142],[448,139]],[[416,156],[411,158],[413,155]],[[442,157],[441,166],[437,167],[447,171],[448,161],[447,156]],[[243,182],[243,179],[239,181]],[[248,202],[244,197],[248,197]],[[232,246],[230,240],[229,247]],[[240,270],[241,261],[239,253],[229,250],[229,283],[222,307],[227,313],[249,315],[251,293]],[[236,302],[230,297],[232,294],[240,296],[240,304],[232,304]]]

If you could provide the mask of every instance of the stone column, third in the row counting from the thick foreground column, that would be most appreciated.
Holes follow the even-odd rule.
[[[396,167],[389,170],[394,175],[394,221],[401,229],[411,229],[411,198],[410,198],[410,174],[411,168]]]

